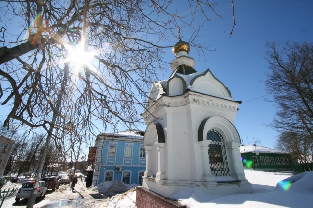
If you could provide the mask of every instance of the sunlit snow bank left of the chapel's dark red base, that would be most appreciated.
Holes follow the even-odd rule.
[[[136,188],[132,188],[125,193],[113,196],[100,208],[137,208],[135,203]]]

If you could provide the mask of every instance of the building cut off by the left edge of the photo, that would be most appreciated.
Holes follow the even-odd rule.
[[[0,134],[0,177],[3,177],[3,173],[6,164],[8,163],[14,144],[14,140],[11,140],[6,136]]]

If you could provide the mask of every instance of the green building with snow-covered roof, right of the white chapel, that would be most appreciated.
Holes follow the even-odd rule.
[[[245,169],[265,172],[300,171],[299,163],[289,154],[263,146],[242,145],[240,153]]]

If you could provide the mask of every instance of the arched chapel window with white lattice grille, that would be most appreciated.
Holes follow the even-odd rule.
[[[222,135],[213,129],[207,132],[206,138],[212,141],[209,145],[208,152],[211,173],[214,176],[229,175],[226,150]]]

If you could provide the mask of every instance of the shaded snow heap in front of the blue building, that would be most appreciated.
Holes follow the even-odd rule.
[[[125,192],[129,188],[126,186],[123,182],[121,182],[118,179],[115,179],[114,181],[105,181],[101,182],[96,186],[99,193],[118,193],[118,192]]]

